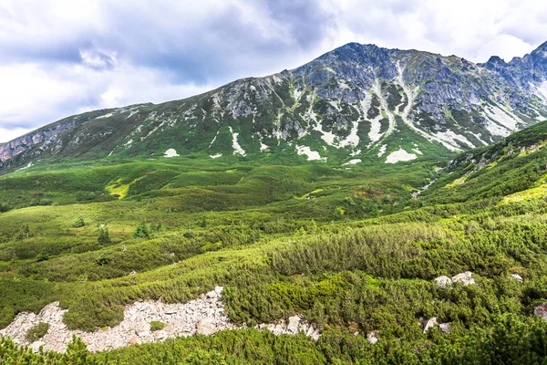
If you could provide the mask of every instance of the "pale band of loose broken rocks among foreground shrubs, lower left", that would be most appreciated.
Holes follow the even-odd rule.
[[[29,345],[25,339],[26,331],[39,322],[46,322],[50,325],[46,336],[40,341],[33,342],[32,349],[37,351],[43,346],[45,350],[63,352],[73,335],[83,339],[90,351],[117,349],[132,344],[195,334],[212,335],[220,330],[236,328],[225,315],[224,307],[219,300],[222,297],[222,289],[215,287],[214,290],[184,304],[166,304],[160,300],[136,302],[125,308],[124,319],[118,326],[96,332],[67,329],[63,323],[63,315],[67,310],[59,308],[55,302],[43,308],[38,315],[19,313],[8,327],[0,329],[0,336],[9,336],[17,344]],[[152,321],[160,321],[167,326],[152,332]],[[267,328],[276,335],[304,332],[314,340],[320,336],[319,330],[299,317],[291,317],[286,323],[280,321],[277,324],[258,325],[257,328]]]

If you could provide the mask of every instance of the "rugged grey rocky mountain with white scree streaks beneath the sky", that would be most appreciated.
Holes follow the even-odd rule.
[[[43,161],[198,154],[400,162],[500,141],[547,118],[547,44],[475,64],[350,43],[300,68],[188,99],[96,110],[0,146],[0,171]]]

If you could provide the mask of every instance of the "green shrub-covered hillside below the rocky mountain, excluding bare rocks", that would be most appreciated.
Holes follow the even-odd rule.
[[[1,339],[0,362],[542,363],[547,322],[533,309],[547,301],[545,141],[542,122],[451,162],[280,153],[6,174],[0,328],[58,301],[68,328],[101,330],[139,299],[186,302],[216,286],[232,322],[249,328],[100,353],[76,341],[33,354]],[[475,285],[434,282],[466,271]],[[294,315],[323,331],[317,342],[251,328]],[[420,318],[433,317],[450,332],[424,333]]]

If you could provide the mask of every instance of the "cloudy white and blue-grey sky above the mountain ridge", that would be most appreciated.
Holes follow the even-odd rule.
[[[349,42],[485,62],[545,41],[539,0],[0,0],[0,142],[296,68]]]

